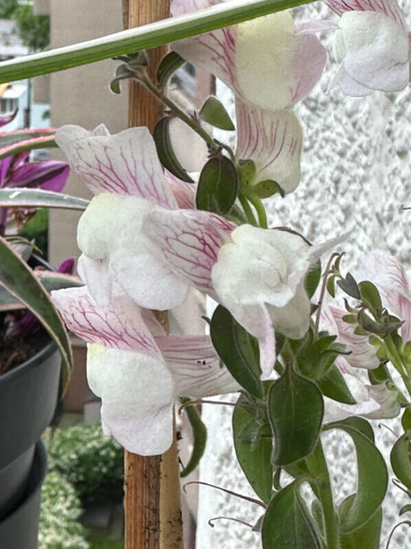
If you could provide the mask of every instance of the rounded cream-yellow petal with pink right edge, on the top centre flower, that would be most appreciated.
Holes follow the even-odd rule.
[[[238,25],[235,62],[243,98],[281,110],[311,92],[326,52],[312,34],[294,34],[291,14],[280,12]]]

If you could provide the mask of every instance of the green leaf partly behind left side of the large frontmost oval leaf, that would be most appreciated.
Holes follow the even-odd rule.
[[[258,418],[258,410],[243,408],[249,400],[241,395],[232,415],[234,448],[238,463],[255,493],[265,503],[271,499],[273,492],[273,466],[271,454],[273,439],[268,419],[262,422]]]

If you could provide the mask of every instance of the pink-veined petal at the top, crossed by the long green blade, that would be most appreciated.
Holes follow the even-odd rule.
[[[177,0],[171,4],[173,16],[208,8],[219,1],[212,0]],[[214,74],[216,78],[238,92],[234,68],[236,45],[236,26],[216,29],[197,37],[192,37],[172,44],[173,50],[196,69]]]

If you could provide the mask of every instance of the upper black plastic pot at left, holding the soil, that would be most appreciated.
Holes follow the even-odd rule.
[[[3,545],[1,532],[32,490],[30,476],[39,459],[34,448],[56,410],[60,364],[60,353],[50,342],[30,360],[0,376],[0,549],[36,547]],[[31,504],[30,510],[25,510],[26,519],[30,512],[34,513],[30,521],[38,518],[38,506]]]

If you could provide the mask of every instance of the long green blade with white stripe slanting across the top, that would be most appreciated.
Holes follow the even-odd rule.
[[[288,10],[313,0],[243,0],[200,12],[156,21],[76,45],[56,48],[0,63],[0,83],[78,67],[203,34],[241,21]]]

